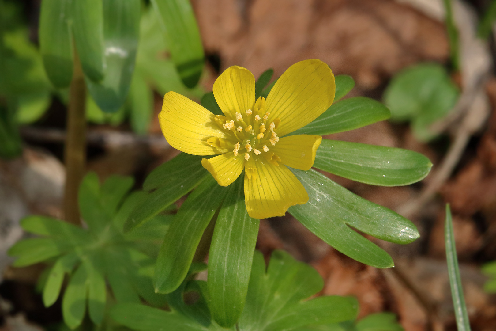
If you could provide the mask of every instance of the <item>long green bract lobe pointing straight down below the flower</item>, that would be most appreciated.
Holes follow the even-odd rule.
[[[230,185],[215,223],[208,254],[209,307],[215,321],[232,327],[241,316],[248,291],[259,220],[248,216],[244,178]]]

